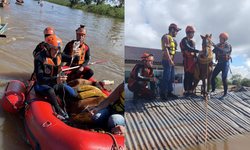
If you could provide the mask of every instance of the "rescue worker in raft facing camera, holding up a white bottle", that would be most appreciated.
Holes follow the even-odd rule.
[[[77,63],[67,63],[66,66],[74,67],[79,66],[79,68],[74,69],[68,76],[68,80],[83,78],[83,79],[89,79],[93,76],[94,72],[92,69],[87,67],[88,62],[90,60],[90,49],[89,46],[84,42],[85,36],[87,34],[85,25],[80,25],[79,28],[76,29],[76,40],[72,40],[67,43],[67,45],[64,48],[63,53],[72,56],[73,55],[73,49],[75,42],[80,41],[80,45],[76,48],[81,51],[81,55],[77,57],[78,62]]]

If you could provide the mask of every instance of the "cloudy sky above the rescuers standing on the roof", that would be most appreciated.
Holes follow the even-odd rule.
[[[193,40],[201,50],[200,34],[219,35],[226,32],[232,45],[228,79],[240,74],[250,79],[250,1],[248,0],[125,0],[125,45],[161,49],[161,37],[175,23],[182,30],[175,40],[179,43],[191,25],[196,32]]]

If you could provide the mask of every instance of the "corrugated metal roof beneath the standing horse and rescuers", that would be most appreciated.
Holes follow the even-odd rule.
[[[250,92],[228,93],[208,101],[208,140],[250,131]],[[172,149],[204,142],[205,100],[179,98],[168,102],[141,100],[125,102],[128,150]]]

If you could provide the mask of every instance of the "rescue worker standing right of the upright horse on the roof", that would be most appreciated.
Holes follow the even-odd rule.
[[[211,79],[212,83],[212,92],[210,93],[211,95],[215,95],[215,78],[216,76],[222,71],[222,82],[223,82],[223,87],[224,87],[224,95],[220,97],[220,100],[223,100],[227,97],[227,73],[229,69],[229,59],[231,58],[231,52],[232,52],[232,46],[230,43],[226,42],[228,40],[228,34],[227,33],[221,33],[219,38],[220,38],[220,43],[217,45],[214,45],[212,43],[212,46],[214,46],[213,52],[215,53],[216,60],[218,61],[217,65],[215,66],[213,70],[213,75]]]

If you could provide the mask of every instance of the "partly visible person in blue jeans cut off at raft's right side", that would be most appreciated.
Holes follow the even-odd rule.
[[[108,98],[90,110],[89,115],[96,127],[107,129],[114,134],[124,134],[124,106],[124,83],[121,83]]]

